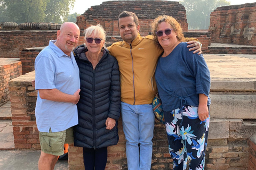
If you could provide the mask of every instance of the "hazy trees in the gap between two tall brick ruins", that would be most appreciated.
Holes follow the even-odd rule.
[[[230,5],[226,0],[183,0],[180,3],[186,8],[188,29],[208,29],[211,12],[217,7]]]

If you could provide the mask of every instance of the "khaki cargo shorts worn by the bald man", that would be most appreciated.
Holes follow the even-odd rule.
[[[65,131],[60,132],[52,132],[51,128],[49,132],[39,132],[41,150],[45,154],[51,154],[56,156],[63,155],[64,143],[74,142],[73,131],[73,127],[71,127]]]

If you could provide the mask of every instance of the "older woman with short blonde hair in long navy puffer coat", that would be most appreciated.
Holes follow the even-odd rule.
[[[86,170],[103,170],[107,147],[118,142],[119,70],[116,58],[105,48],[103,28],[99,24],[92,25],[84,34],[85,44],[74,50],[81,80],[74,146],[83,147]]]

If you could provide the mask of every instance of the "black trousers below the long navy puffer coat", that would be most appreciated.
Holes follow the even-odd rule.
[[[108,148],[83,148],[85,170],[104,170],[107,164]]]

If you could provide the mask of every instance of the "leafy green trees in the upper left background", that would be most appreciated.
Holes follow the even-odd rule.
[[[75,0],[0,0],[0,22],[61,23]]]

